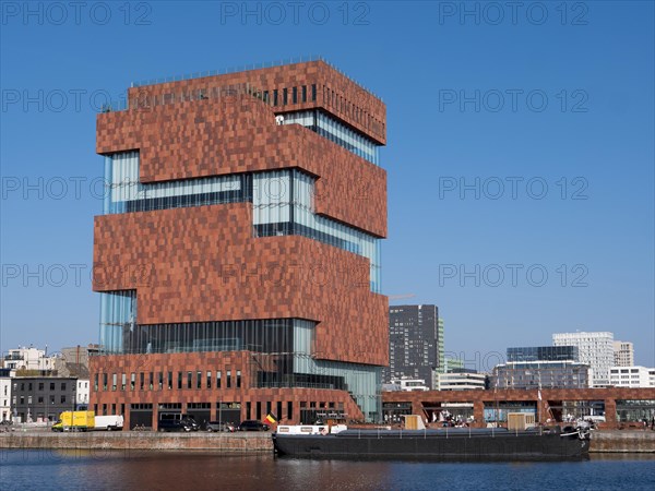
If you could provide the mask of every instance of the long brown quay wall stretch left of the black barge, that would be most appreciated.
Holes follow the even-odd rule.
[[[153,433],[139,431],[0,433],[0,448],[273,452],[269,433]]]

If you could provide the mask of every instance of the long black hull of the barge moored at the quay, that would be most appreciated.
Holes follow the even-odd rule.
[[[588,457],[588,438],[539,432],[348,430],[329,435],[274,434],[279,456],[442,462],[572,460]]]

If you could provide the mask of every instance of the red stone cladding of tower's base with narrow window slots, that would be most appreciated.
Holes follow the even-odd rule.
[[[189,354],[169,354],[169,355],[121,355],[121,356],[102,356],[92,357],[90,360],[91,373],[98,375],[98,391],[94,390],[94,380],[91,387],[91,408],[98,405],[98,412],[102,414],[102,407],[107,405],[108,414],[111,411],[111,405],[117,406],[117,412],[120,411],[120,405],[124,404],[126,428],[130,428],[130,404],[152,404],[153,420],[157,420],[157,405],[162,403],[180,403],[182,412],[187,412],[189,403],[211,403],[212,419],[216,420],[216,403],[234,402],[241,403],[241,420],[255,417],[255,404],[262,403],[262,414],[265,412],[266,403],[271,403],[272,410],[276,411],[276,403],[283,403],[283,414],[275,416],[294,422],[300,421],[301,403],[307,403],[309,409],[310,403],[317,403],[319,408],[321,404],[329,407],[334,403],[334,407],[340,405],[348,418],[364,419],[361,410],[355,404],[349,394],[345,391],[319,390],[319,388],[255,388],[250,384],[251,366],[253,361],[251,354],[247,351],[225,351],[225,352],[189,352]],[[216,371],[222,371],[222,386],[216,387]],[[231,387],[227,388],[227,371],[231,371]],[[236,372],[241,371],[241,387],[236,386]],[[172,373],[172,388],[168,388],[168,371]],[[196,388],[196,372],[202,372],[201,388]],[[207,388],[206,372],[212,371],[212,387]],[[150,390],[150,373],[153,373],[154,385]],[[164,374],[164,386],[158,386],[158,374]],[[177,372],[182,372],[182,388],[177,388]],[[187,388],[187,372],[192,373],[192,387]],[[107,374],[108,386],[103,390],[103,374]],[[135,374],[136,383],[134,390],[131,388],[131,374]],[[140,373],[144,373],[144,390],[140,388]],[[112,374],[117,375],[117,390],[111,390]],[[127,384],[123,390],[121,386],[122,374],[126,375]],[[251,414],[247,414],[247,403],[252,403]],[[293,403],[293,415],[287,414],[287,402]],[[265,414],[262,415],[262,417]]]

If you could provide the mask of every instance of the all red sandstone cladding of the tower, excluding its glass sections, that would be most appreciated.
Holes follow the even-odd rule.
[[[287,104],[272,105],[273,91]],[[297,168],[317,178],[318,215],[386,236],[385,171],[306,128],[276,124],[276,115],[320,108],[384,144],[384,105],[325,63],[130,88],[129,100],[129,110],[98,115],[97,153],[139,151],[141,182]],[[98,216],[94,290],[135,290],[143,325],[313,321],[314,358],[386,364],[388,301],[371,292],[369,261],[306,237],[255,237],[252,213],[251,203],[227,203]],[[158,408],[171,404],[213,420],[218,404],[241,420],[273,411],[299,421],[309,409],[364,418],[345,391],[253,386],[266,362],[275,360],[250,351],[94,357],[91,408],[123,414],[127,428],[132,408],[151,408],[156,427]]]

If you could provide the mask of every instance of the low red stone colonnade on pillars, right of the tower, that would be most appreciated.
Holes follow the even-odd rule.
[[[605,428],[616,428],[617,400],[655,400],[655,387],[648,388],[544,388],[541,397],[537,390],[500,391],[428,391],[383,392],[383,403],[412,403],[414,414],[424,415],[424,407],[436,407],[441,403],[473,403],[474,417],[479,426],[484,422],[485,403],[496,405],[505,402],[534,402],[539,408],[543,422],[549,417],[550,406],[561,406],[563,400],[605,402]],[[539,407],[540,406],[540,407]]]

